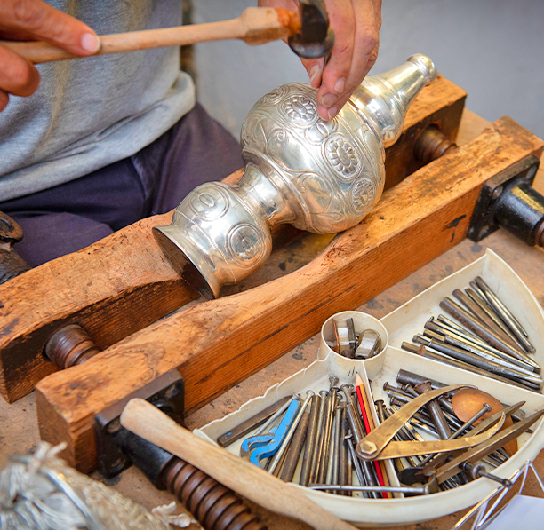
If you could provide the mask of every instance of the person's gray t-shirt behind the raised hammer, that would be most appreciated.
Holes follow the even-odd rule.
[[[180,0],[50,0],[98,35],[181,24]],[[37,65],[38,90],[0,113],[0,202],[122,160],[195,104],[179,48]]]

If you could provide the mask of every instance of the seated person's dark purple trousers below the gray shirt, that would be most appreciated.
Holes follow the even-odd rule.
[[[0,202],[24,238],[14,248],[36,266],[178,206],[193,188],[243,166],[236,139],[196,104],[139,153],[66,184]]]

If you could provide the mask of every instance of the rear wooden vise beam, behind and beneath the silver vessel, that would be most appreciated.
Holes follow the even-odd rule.
[[[455,138],[466,92],[438,76],[416,99],[404,132],[386,155],[386,186],[418,162],[413,145],[429,124]],[[239,170],[225,179],[237,182]],[[390,184],[388,184],[390,183]],[[44,357],[52,334],[67,324],[84,327],[102,349],[116,344],[198,295],[164,258],[151,233],[172,212],[143,219],[102,241],[7,281],[0,286],[0,394],[9,402],[31,392],[57,368]],[[294,229],[283,226],[275,242]]]

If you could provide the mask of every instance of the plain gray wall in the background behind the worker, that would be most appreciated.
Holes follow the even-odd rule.
[[[194,21],[226,20],[248,0],[193,0]],[[372,73],[426,53],[468,92],[467,107],[487,120],[509,115],[544,138],[543,0],[383,0],[380,55]],[[307,81],[284,43],[226,41],[196,46],[198,99],[239,136],[253,103],[277,85]]]

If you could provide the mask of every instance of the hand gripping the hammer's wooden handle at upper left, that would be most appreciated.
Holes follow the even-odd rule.
[[[42,0],[0,0],[0,12],[0,38],[44,40],[81,56],[100,49],[100,40],[91,28]],[[8,104],[10,94],[29,96],[39,82],[34,65],[0,45],[0,111]]]

